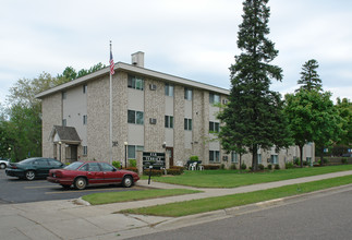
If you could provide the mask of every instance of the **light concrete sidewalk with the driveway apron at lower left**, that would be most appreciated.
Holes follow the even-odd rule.
[[[174,229],[187,226],[189,224],[221,219],[229,217],[228,214],[231,211],[241,212],[241,209],[245,209],[246,206],[178,218],[114,214],[121,209],[252,192],[348,175],[352,175],[352,171],[260,183],[234,189],[197,189],[204,192],[98,206],[83,205],[77,200],[3,204],[0,205],[0,240],[125,239],[133,236]],[[159,182],[151,182],[150,185],[148,185],[146,180],[138,181],[137,185],[158,189],[195,189]]]

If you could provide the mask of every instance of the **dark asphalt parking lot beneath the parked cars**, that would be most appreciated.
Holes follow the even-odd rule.
[[[8,177],[4,169],[0,169],[0,204],[28,203],[49,200],[70,200],[96,192],[137,191],[138,187],[125,189],[121,185],[88,187],[85,190],[69,189],[50,183],[45,179],[26,181]]]

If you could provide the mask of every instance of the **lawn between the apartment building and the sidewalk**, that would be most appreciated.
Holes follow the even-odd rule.
[[[241,185],[281,181],[344,170],[352,170],[352,165],[293,168],[255,173],[248,171],[239,173],[238,170],[185,171],[181,176],[151,177],[151,179],[153,181],[196,188],[236,188]]]

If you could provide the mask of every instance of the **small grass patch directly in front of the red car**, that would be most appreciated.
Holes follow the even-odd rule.
[[[156,190],[141,190],[141,191],[126,191],[126,192],[105,192],[93,193],[82,196],[84,201],[87,201],[92,205],[108,204],[108,203],[121,203],[173,195],[183,195],[198,193],[202,191],[194,191],[187,189],[156,189]]]

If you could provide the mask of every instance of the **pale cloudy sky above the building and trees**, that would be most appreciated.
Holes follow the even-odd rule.
[[[324,91],[352,99],[352,1],[269,0],[268,36],[283,70],[271,89],[293,93],[302,65],[316,59]],[[242,0],[0,0],[0,104],[20,79],[66,67],[131,63],[230,88],[229,67],[242,22]]]

